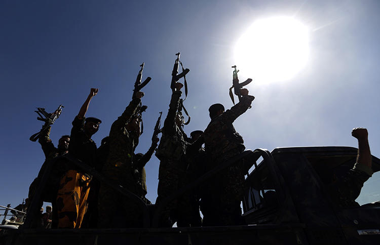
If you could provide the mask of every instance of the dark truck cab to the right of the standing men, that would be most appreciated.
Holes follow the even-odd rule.
[[[254,164],[246,178],[243,217],[247,224],[293,226],[295,240],[286,244],[379,243],[379,203],[341,207],[327,189],[331,178],[326,176],[339,178],[354,167],[357,148],[256,151],[261,152],[263,160]],[[372,169],[380,169],[380,161],[374,156]]]

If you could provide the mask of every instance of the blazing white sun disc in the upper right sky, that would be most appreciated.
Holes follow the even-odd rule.
[[[254,83],[287,80],[306,65],[308,42],[308,28],[291,17],[257,20],[238,40],[235,62]]]

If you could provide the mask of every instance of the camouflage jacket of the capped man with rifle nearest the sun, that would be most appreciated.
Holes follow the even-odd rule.
[[[232,123],[248,109],[253,99],[254,97],[250,95],[243,96],[230,110],[211,119],[203,134],[205,150],[211,161],[224,160],[223,155],[232,150],[244,151],[243,138],[236,132]]]

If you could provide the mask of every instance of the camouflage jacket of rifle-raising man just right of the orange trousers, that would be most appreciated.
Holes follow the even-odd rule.
[[[140,102],[141,100],[138,98],[132,99],[123,114],[113,122],[109,131],[109,155],[105,167],[122,167],[116,166],[119,164],[131,166],[133,151],[138,144],[139,133],[129,132],[126,125],[136,112]]]

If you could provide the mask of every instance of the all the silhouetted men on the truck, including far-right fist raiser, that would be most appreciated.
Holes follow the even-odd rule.
[[[254,97],[248,95],[247,89],[240,89],[239,103],[231,109],[225,110],[222,104],[211,105],[207,128],[193,131],[187,137],[183,131],[182,87],[176,82],[172,88],[164,126],[155,131],[145,154],[135,152],[143,111],[144,93],[140,91],[134,92],[133,99],[113,122],[99,147],[91,137],[98,131],[101,120],[85,117],[98,89],[91,89],[72,121],[70,135],[63,135],[57,147],[49,137],[51,127],[47,122],[39,137],[46,160],[28,194],[27,206],[33,201],[39,206],[31,211],[34,212],[32,227],[142,227],[146,208],[149,214],[158,212],[159,227],[172,227],[175,222],[178,227],[243,225],[240,203],[248,172],[243,159],[202,185],[173,195],[245,150],[243,138],[233,122],[251,107]],[[157,137],[160,132],[161,139]],[[347,178],[335,181],[329,188],[340,205],[350,205],[373,173],[366,129],[356,128],[352,135],[359,142],[357,164]],[[155,205],[145,197],[145,165],[153,153],[160,160]],[[47,215],[40,212],[43,201],[52,203]]]

